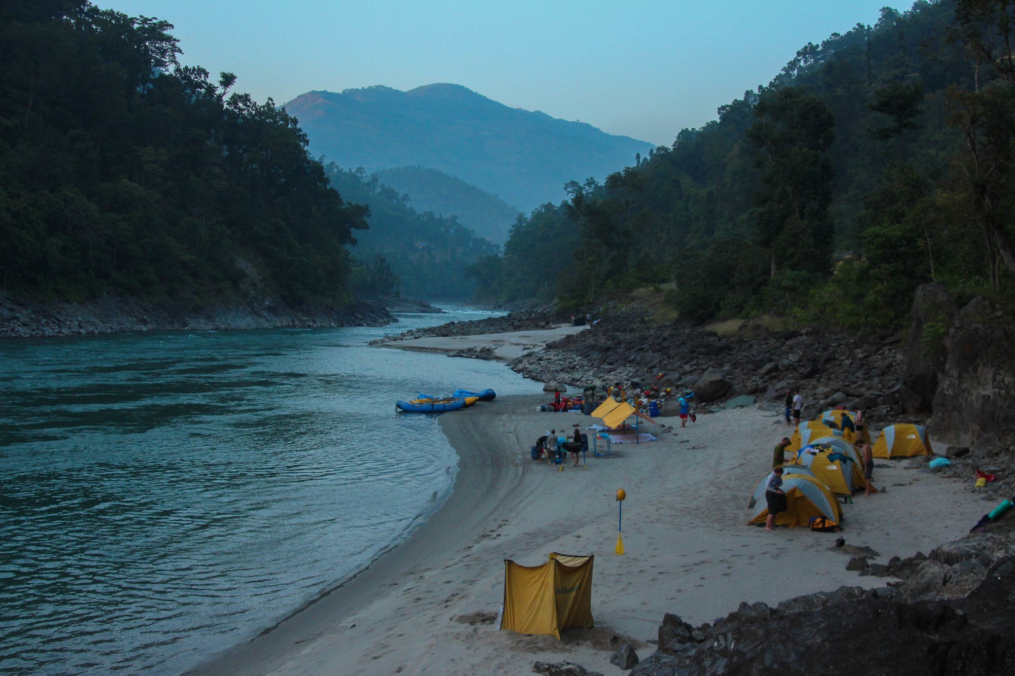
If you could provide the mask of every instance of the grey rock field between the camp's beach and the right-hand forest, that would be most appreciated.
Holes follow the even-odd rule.
[[[701,328],[656,325],[638,311],[605,317],[588,331],[548,343],[510,365],[533,380],[605,387],[614,382],[692,389],[698,401],[758,395],[782,401],[800,388],[805,414],[847,404],[883,421],[902,415],[899,337],[830,331],[721,337]]]

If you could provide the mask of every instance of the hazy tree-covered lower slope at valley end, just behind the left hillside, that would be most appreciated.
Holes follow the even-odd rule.
[[[493,243],[476,236],[455,217],[417,212],[409,206],[407,195],[382,185],[377,176],[367,178],[362,168],[342,170],[330,163],[328,176],[347,199],[369,207],[370,228],[357,233],[352,250],[357,258],[373,262],[356,266],[357,280],[364,275],[369,279],[357,281],[360,288],[368,290],[376,285],[377,272],[384,277],[384,268],[390,266],[401,282],[401,291],[413,297],[458,299],[471,295],[474,282],[465,270],[479,258],[495,256]]]

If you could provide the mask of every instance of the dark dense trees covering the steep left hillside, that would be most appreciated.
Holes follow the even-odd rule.
[[[0,5],[0,285],[344,302],[365,208],[271,99],[181,67],[172,27],[83,0]]]

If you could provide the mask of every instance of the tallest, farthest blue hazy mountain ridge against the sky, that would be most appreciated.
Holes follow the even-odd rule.
[[[309,91],[285,110],[299,120],[311,151],[340,166],[435,168],[525,211],[564,199],[568,181],[602,180],[654,147],[458,84]]]

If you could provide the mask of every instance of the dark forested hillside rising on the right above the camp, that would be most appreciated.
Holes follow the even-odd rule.
[[[932,279],[1010,292],[1013,27],[1015,3],[919,1],[805,46],[715,122],[520,221],[473,269],[481,297],[672,284],[692,321],[859,327],[897,326]]]

